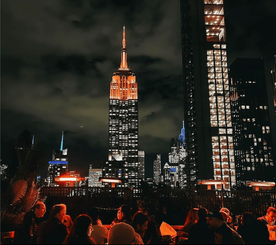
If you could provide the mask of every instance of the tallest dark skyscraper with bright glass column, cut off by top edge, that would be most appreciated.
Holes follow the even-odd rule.
[[[229,100],[224,1],[181,0],[187,184],[236,184]]]

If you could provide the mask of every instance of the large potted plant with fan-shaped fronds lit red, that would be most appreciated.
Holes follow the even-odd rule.
[[[16,232],[24,214],[32,209],[35,202],[46,200],[40,196],[40,188],[35,183],[39,161],[34,144],[28,147],[17,144],[15,153],[17,166],[12,177],[1,179],[1,233]],[[5,235],[10,234],[2,234],[1,238]]]

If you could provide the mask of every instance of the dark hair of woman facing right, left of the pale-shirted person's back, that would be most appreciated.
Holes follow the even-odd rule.
[[[86,214],[80,214],[73,222],[71,232],[74,236],[86,237],[88,236],[88,228],[92,223],[91,218]]]

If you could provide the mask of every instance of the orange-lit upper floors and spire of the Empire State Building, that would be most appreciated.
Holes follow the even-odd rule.
[[[123,40],[121,51],[121,65],[117,72],[113,74],[110,83],[110,99],[137,100],[137,83],[134,73],[127,64],[125,40],[125,26],[123,28]]]

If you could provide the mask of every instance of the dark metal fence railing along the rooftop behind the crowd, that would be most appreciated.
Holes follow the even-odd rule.
[[[47,196],[47,206],[65,203],[68,213],[74,218],[85,213],[91,206],[100,209],[106,224],[116,217],[117,208],[129,204],[133,211],[137,201],[143,200],[152,214],[158,215],[166,208],[174,225],[182,225],[188,211],[193,207],[219,210],[226,207],[232,217],[249,211],[255,217],[266,214],[269,206],[276,207],[276,190],[203,190],[193,189],[143,189],[101,187],[42,187],[41,194]],[[112,221],[112,220],[111,220]],[[235,220],[234,220],[235,221]],[[111,223],[111,222],[110,222]]]

